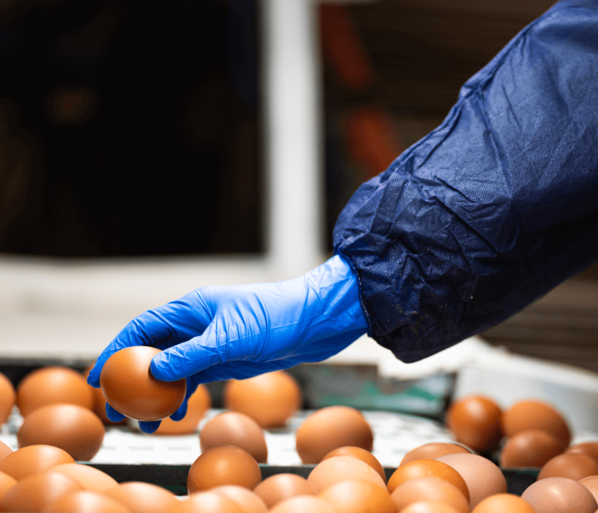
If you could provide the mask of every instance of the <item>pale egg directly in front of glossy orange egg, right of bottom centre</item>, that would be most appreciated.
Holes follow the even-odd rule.
[[[461,490],[440,477],[416,477],[405,481],[392,492],[391,498],[399,512],[409,504],[423,500],[444,502],[459,513],[469,512],[469,502]]]

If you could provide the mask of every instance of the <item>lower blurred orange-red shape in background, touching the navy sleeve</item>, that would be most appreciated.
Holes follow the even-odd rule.
[[[345,125],[347,150],[364,170],[364,180],[378,175],[402,152],[389,113],[374,106],[353,110]]]

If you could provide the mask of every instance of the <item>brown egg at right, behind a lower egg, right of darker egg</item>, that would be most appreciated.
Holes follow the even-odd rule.
[[[555,435],[565,450],[571,441],[571,432],[565,418],[547,403],[524,400],[515,403],[503,413],[501,420],[505,437],[513,437],[520,431],[536,429]]]

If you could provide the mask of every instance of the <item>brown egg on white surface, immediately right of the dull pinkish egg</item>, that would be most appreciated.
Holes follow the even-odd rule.
[[[374,434],[359,410],[329,406],[305,419],[297,430],[296,442],[303,463],[319,463],[338,447],[352,445],[371,451]]]

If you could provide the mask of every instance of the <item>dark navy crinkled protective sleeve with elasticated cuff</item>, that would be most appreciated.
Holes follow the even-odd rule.
[[[565,0],[364,183],[335,252],[402,361],[490,328],[598,259],[598,1]]]

